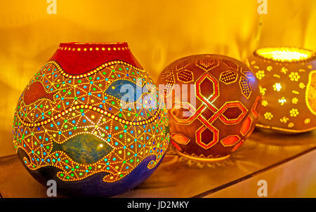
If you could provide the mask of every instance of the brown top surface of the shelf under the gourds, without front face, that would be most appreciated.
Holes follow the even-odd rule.
[[[287,135],[256,130],[228,159],[209,163],[180,157],[169,148],[162,164],[150,178],[115,197],[211,197],[220,191],[228,194],[230,187],[282,168],[282,164],[289,164],[287,171],[295,173],[300,167],[290,162],[305,154],[316,155],[316,131]],[[316,161],[315,157],[311,158],[314,160],[304,163],[311,167],[308,175],[315,175]],[[272,175],[273,179],[282,177],[276,173]],[[291,180],[291,175],[287,178]],[[306,176],[306,179],[312,178]],[[296,178],[293,180],[297,181]],[[301,180],[294,183],[299,187]],[[313,186],[316,182],[310,183]],[[47,197],[46,187],[29,175],[16,155],[0,158],[0,194],[2,197]],[[231,196],[238,197],[238,194]]]

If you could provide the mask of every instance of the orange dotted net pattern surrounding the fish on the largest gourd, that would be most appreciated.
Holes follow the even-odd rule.
[[[151,155],[156,159],[147,168],[154,168],[169,145],[166,110],[159,107],[159,101],[154,109],[142,98],[123,109],[118,98],[105,92],[121,79],[138,86],[153,85],[144,70],[122,61],[110,61],[77,76],[66,74],[55,60],[41,67],[25,91],[40,82],[52,98],[39,96],[27,105],[24,91],[13,121],[13,143],[27,154],[23,159],[27,168],[59,168],[57,177],[65,181],[104,172],[103,180],[109,183],[121,180]],[[56,150],[82,134],[95,136],[102,141],[99,148],[111,151],[92,164],[81,164],[67,152]]]

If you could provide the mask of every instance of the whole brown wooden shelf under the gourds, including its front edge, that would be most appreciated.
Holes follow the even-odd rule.
[[[316,131],[298,135],[255,131],[228,159],[192,161],[169,148],[157,170],[115,197],[258,197],[258,180],[268,197],[316,197]],[[47,197],[18,157],[0,158],[2,197]]]

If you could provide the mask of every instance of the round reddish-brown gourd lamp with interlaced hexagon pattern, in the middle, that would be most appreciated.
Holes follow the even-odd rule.
[[[225,159],[254,130],[261,95],[243,62],[223,55],[181,58],[162,71],[157,86],[169,111],[171,143],[183,157]]]

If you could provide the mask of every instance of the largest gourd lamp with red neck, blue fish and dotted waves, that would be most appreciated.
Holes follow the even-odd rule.
[[[125,105],[124,86],[140,89]],[[166,110],[148,103],[157,93],[147,86],[126,43],[60,44],[15,110],[13,143],[27,171],[67,196],[109,197],[142,183],[169,145]]]

